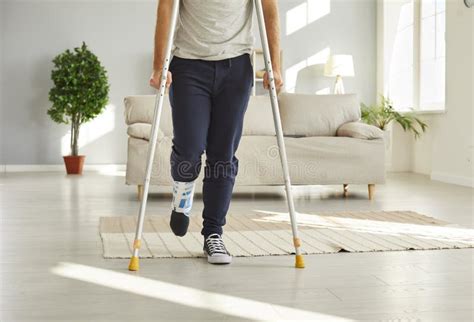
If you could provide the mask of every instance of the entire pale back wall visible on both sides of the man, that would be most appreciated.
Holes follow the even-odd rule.
[[[353,54],[357,76],[345,80],[346,87],[359,93],[364,102],[373,102],[375,0],[279,3],[284,69],[290,74],[298,71],[304,64],[313,63],[314,55],[326,48],[333,53]],[[309,18],[301,28],[286,35],[287,13],[301,14],[301,9],[315,3],[329,4],[329,14],[318,19],[305,16]],[[111,106],[82,129],[84,146],[80,152],[87,155],[89,164],[125,163],[127,136],[122,100],[130,94],[152,93],[147,82],[155,12],[153,0],[5,1],[1,34],[6,50],[0,68],[7,81],[2,86],[4,96],[0,102],[6,108],[0,126],[8,135],[0,141],[0,164],[62,163],[61,155],[68,153],[69,128],[53,123],[46,114],[52,86],[51,60],[83,40],[109,72]],[[258,42],[256,46],[259,47]],[[312,79],[302,79],[301,88],[309,88]]]

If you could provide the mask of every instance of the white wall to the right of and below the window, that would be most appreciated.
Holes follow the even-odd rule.
[[[397,170],[473,186],[474,10],[448,0],[446,15],[446,113],[421,115],[429,128],[420,140],[397,129],[393,139],[404,149],[393,154],[392,164]]]

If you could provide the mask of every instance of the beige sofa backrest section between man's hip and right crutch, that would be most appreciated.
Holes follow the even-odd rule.
[[[245,112],[243,135],[275,135],[269,96],[250,96]]]

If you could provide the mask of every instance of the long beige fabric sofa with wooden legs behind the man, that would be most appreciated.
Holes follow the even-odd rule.
[[[126,183],[138,186],[146,167],[155,96],[124,100],[128,125]],[[368,185],[385,182],[383,132],[359,122],[356,95],[279,95],[291,181],[294,185]],[[168,98],[163,106],[151,184],[171,185],[170,153],[173,127]],[[203,156],[204,161],[205,156]],[[283,185],[273,115],[268,96],[251,96],[237,151],[236,185]],[[203,163],[204,164],[204,163]],[[201,171],[198,182],[202,181]]]

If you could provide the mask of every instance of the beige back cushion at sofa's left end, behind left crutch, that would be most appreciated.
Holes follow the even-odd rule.
[[[156,95],[133,95],[124,99],[125,104],[125,123],[128,125],[134,123],[153,122]],[[160,119],[160,130],[166,136],[173,135],[173,124],[171,119],[171,105],[168,95],[163,101],[163,109]]]

